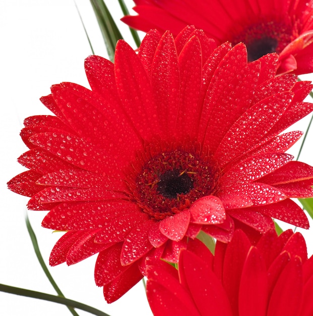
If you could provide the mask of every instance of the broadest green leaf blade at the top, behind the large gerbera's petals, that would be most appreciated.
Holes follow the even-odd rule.
[[[96,15],[111,62],[114,61],[115,46],[122,36],[103,0],[90,0]]]

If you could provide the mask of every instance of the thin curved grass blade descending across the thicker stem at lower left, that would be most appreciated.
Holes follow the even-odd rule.
[[[65,298],[65,296],[63,295],[63,293],[61,292],[61,290],[59,289],[59,287],[57,286],[57,284],[55,283],[55,281],[53,280],[46,264],[44,263],[44,260],[42,258],[42,255],[41,255],[41,252],[40,252],[40,249],[39,249],[39,245],[38,245],[38,241],[37,241],[37,237],[35,235],[35,232],[29,222],[29,218],[28,218],[28,215],[26,213],[26,216],[25,216],[25,222],[26,222],[26,226],[27,226],[27,230],[28,230],[28,234],[30,236],[30,239],[32,241],[32,244],[33,244],[33,248],[35,250],[35,253],[36,253],[36,256],[37,256],[37,259],[39,261],[39,264],[44,272],[44,274],[46,275],[46,277],[48,278],[48,280],[50,281],[51,285],[53,286],[55,292],[60,296],[60,297],[63,297]],[[70,312],[73,314],[73,316],[79,316],[79,314],[75,311],[75,309],[73,309],[73,307],[71,306],[68,306]]]

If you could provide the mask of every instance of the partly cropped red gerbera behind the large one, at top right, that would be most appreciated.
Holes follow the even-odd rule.
[[[244,42],[249,61],[279,54],[278,74],[313,72],[313,1],[134,0],[138,16],[122,21],[135,29],[178,34],[195,25],[217,43]]]

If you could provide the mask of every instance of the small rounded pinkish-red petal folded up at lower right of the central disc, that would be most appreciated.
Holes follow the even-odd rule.
[[[221,224],[226,219],[223,203],[213,195],[199,198],[189,210],[191,222],[196,224]]]

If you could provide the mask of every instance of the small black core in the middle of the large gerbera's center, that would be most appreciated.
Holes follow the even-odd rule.
[[[188,193],[193,187],[193,180],[186,173],[177,169],[166,171],[160,176],[158,192],[165,197],[175,198],[177,194]]]

